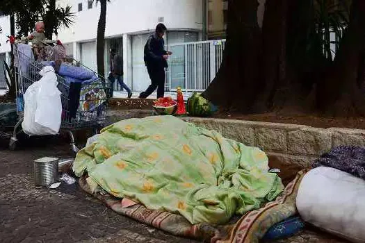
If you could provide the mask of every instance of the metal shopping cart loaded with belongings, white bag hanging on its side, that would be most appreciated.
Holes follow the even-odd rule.
[[[23,44],[23,46],[22,46]],[[14,150],[17,146],[17,135],[22,131],[21,124],[24,119],[24,94],[27,88],[35,81],[40,80],[40,70],[47,65],[47,62],[34,60],[33,53],[27,47],[24,51],[24,43],[14,44],[15,60],[15,83],[17,94],[17,115],[19,121],[14,127],[13,136],[10,138],[9,148]],[[67,57],[70,65],[75,65],[88,72],[95,74],[95,79],[91,83],[81,83],[81,87],[75,91],[72,83],[67,82],[66,78],[56,74],[58,90],[61,94],[62,102],[62,121],[60,131],[66,131],[70,136],[70,146],[75,153],[79,151],[74,140],[74,131],[92,128],[98,133],[99,128],[104,126],[107,120],[108,94],[110,85],[105,82],[104,77],[82,65],[74,58]]]

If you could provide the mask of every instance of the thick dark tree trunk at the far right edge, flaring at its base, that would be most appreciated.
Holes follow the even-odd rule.
[[[365,115],[365,98],[359,74],[365,51],[365,1],[353,0],[350,25],[343,35],[334,65],[320,87],[319,106],[327,115]],[[359,69],[362,69],[359,72]]]

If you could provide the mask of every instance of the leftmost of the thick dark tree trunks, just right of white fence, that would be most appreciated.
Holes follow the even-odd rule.
[[[248,112],[259,90],[261,29],[257,0],[231,0],[228,4],[227,42],[222,65],[202,94],[220,106]]]

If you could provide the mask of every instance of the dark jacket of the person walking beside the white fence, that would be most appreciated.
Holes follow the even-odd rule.
[[[166,55],[165,41],[154,33],[148,37],[145,44],[145,65],[168,67],[168,62],[162,57],[163,55]]]

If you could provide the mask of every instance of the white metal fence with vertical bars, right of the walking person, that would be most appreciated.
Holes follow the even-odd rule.
[[[202,91],[209,86],[222,63],[225,40],[171,44],[165,90],[181,87],[185,92]]]

